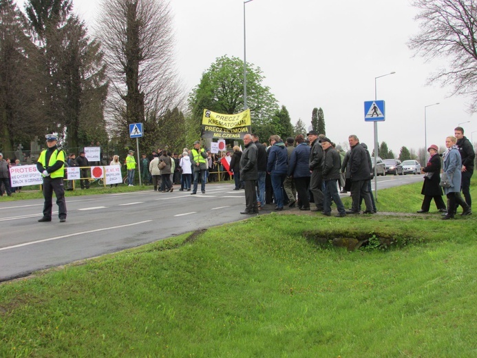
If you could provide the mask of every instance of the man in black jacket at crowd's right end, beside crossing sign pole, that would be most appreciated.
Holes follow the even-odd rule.
[[[368,180],[371,179],[371,169],[368,162],[368,153],[361,144],[357,136],[352,134],[348,137],[351,147],[350,156],[350,179],[351,179],[351,210],[348,214],[359,214],[359,198],[364,199],[366,210],[364,213],[373,213],[370,192],[368,191]]]

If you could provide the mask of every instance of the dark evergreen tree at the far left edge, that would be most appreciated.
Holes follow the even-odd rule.
[[[46,114],[41,51],[28,36],[24,14],[0,0],[0,149],[30,143],[43,133]]]

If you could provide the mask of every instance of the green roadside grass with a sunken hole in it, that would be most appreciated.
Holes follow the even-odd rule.
[[[475,357],[476,221],[273,213],[46,271],[0,285],[0,357]]]

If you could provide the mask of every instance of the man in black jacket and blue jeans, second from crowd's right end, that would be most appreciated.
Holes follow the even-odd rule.
[[[346,216],[343,202],[339,198],[337,180],[339,179],[339,169],[341,169],[341,156],[331,145],[328,138],[321,139],[321,147],[324,150],[323,180],[325,182],[325,192],[323,199],[323,214],[331,215],[331,200],[333,200],[338,209],[339,218]]]

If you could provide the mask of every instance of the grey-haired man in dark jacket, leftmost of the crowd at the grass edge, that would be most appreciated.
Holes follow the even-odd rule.
[[[255,182],[258,178],[257,171],[257,146],[252,142],[251,134],[244,136],[245,149],[240,158],[240,180],[244,181],[245,210],[241,214],[257,214],[257,191]]]

